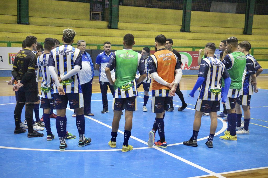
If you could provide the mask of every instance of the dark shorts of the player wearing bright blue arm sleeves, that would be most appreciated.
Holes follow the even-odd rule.
[[[204,113],[217,112],[219,111],[219,109],[219,101],[207,101],[197,99],[195,104],[195,110]]]

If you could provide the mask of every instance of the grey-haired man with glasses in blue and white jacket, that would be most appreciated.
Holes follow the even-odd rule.
[[[78,72],[79,82],[81,85],[83,98],[84,98],[84,115],[94,116],[91,113],[91,94],[92,94],[92,81],[94,76],[94,67],[90,55],[85,52],[86,43],[84,40],[77,41],[77,48],[80,49],[82,54],[82,68]],[[76,117],[76,113],[73,113],[72,117]]]

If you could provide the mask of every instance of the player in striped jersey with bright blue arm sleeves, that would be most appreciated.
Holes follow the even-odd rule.
[[[198,80],[189,96],[194,97],[195,91],[200,87],[200,93],[195,104],[195,120],[193,121],[193,134],[190,140],[184,141],[187,146],[197,147],[197,136],[201,126],[203,113],[210,114],[210,133],[206,141],[209,148],[213,147],[213,137],[217,129],[217,111],[220,110],[221,92],[222,103],[226,102],[231,78],[224,64],[214,57],[216,46],[214,43],[207,43],[204,49],[204,59],[201,61]],[[225,81],[224,91],[221,90],[222,78]]]

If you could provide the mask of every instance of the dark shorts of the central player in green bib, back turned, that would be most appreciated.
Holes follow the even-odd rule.
[[[128,98],[113,98],[113,110],[121,111],[135,111],[137,110],[137,97],[132,96]]]

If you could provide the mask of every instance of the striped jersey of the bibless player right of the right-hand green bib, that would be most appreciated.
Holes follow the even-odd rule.
[[[242,78],[241,95],[252,95],[253,86],[251,85],[251,74],[255,74],[255,58],[251,54],[247,54],[247,63]],[[258,70],[258,69],[257,69]]]

